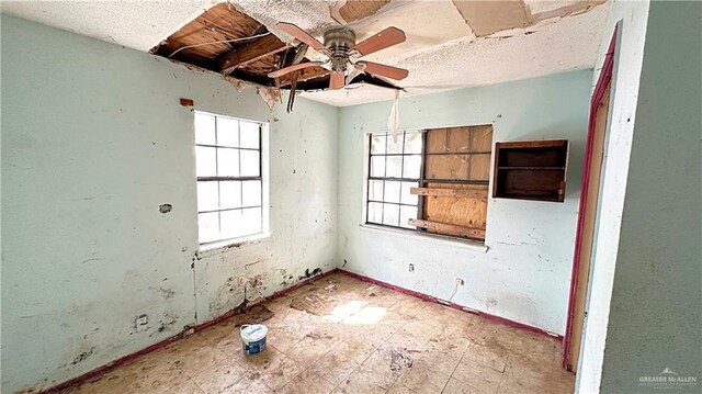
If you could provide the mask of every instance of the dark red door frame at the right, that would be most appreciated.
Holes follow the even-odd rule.
[[[580,185],[580,205],[578,210],[578,222],[575,237],[575,251],[573,254],[573,272],[570,273],[570,294],[568,300],[568,315],[566,319],[566,333],[563,337],[563,368],[568,369],[568,363],[570,361],[570,347],[573,344],[573,320],[575,318],[575,304],[577,297],[577,286],[578,286],[578,275],[580,269],[580,252],[582,250],[582,234],[585,230],[585,213],[588,210],[587,196],[588,189],[590,182],[590,167],[592,165],[592,150],[595,144],[595,134],[597,130],[597,113],[598,106],[602,101],[604,93],[610,89],[612,83],[612,74],[614,71],[614,50],[616,46],[616,32],[618,25],[614,26],[614,33],[612,34],[612,38],[610,41],[610,46],[604,56],[604,61],[602,64],[602,69],[600,71],[600,77],[598,78],[597,85],[595,87],[595,91],[592,92],[592,97],[590,99],[590,117],[588,121],[588,138],[585,148],[585,164],[582,167],[582,184]],[[610,97],[610,100],[613,100],[613,97]],[[605,133],[607,133],[605,127]],[[605,147],[607,148],[607,147]],[[589,209],[597,209],[597,206],[590,206]],[[586,299],[587,300],[587,299]],[[577,334],[581,335],[581,334]],[[582,349],[582,348],[580,348]],[[580,350],[582,351],[582,350]]]

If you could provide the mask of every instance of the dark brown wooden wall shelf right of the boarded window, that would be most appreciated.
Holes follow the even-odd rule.
[[[492,196],[563,202],[568,140],[497,143]]]

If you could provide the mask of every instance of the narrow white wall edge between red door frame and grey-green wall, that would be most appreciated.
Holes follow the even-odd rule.
[[[612,1],[592,80],[595,86],[616,26],[618,41],[607,130],[609,137],[604,150],[597,238],[593,244],[590,266],[584,339],[576,375],[576,392],[578,393],[598,392],[602,375],[604,341],[624,209],[629,158],[637,116],[636,98],[644,56],[648,5],[647,0]],[[579,334],[574,333],[573,335]]]

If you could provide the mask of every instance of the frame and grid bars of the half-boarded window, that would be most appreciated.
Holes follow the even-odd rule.
[[[427,164],[427,157],[428,156],[471,156],[471,155],[485,155],[485,154],[489,154],[490,155],[490,160],[492,159],[492,148],[490,148],[490,151],[474,151],[474,153],[428,153],[427,151],[427,133],[431,132],[432,130],[438,130],[438,128],[451,128],[452,126],[446,126],[446,127],[433,127],[433,128],[407,128],[404,131],[400,131],[398,133],[401,133],[403,135],[403,154],[387,154],[387,140],[386,140],[386,151],[384,154],[384,156],[420,156],[421,157],[421,161],[420,161],[420,168],[419,168],[419,178],[418,179],[405,179],[405,178],[388,178],[388,177],[372,177],[371,176],[371,171],[372,171],[372,166],[371,166],[371,157],[373,156],[383,156],[383,155],[373,155],[372,154],[372,140],[373,140],[373,136],[374,135],[382,135],[385,134],[386,138],[389,138],[392,136],[392,133],[387,132],[387,131],[380,131],[380,132],[366,132],[364,133],[364,137],[367,138],[367,140],[364,140],[364,150],[367,149],[367,154],[364,154],[364,165],[367,166],[367,169],[365,169],[364,171],[364,193],[363,193],[363,226],[372,226],[372,227],[382,227],[382,228],[387,228],[387,229],[392,229],[392,230],[405,230],[405,232],[410,232],[414,234],[418,234],[422,237],[429,237],[429,238],[448,238],[451,240],[455,240],[455,241],[461,241],[461,243],[469,243],[473,245],[485,245],[485,240],[484,239],[476,239],[476,238],[471,238],[471,237],[461,237],[461,236],[456,236],[456,235],[451,235],[451,234],[442,234],[442,233],[432,233],[432,232],[428,232],[426,228],[421,228],[421,227],[403,227],[401,225],[398,226],[394,226],[394,225],[388,225],[388,224],[384,224],[384,223],[375,223],[375,222],[369,222],[369,206],[371,202],[380,202],[380,203],[384,203],[384,204],[388,204],[384,201],[372,201],[370,199],[370,181],[371,180],[392,180],[392,181],[403,181],[403,182],[417,182],[418,183],[418,188],[426,188],[428,183],[453,183],[453,184],[480,184],[480,185],[487,185],[488,190],[489,190],[489,183],[491,181],[491,173],[488,175],[488,179],[487,180],[457,180],[457,179],[429,179],[426,178],[426,164]],[[453,127],[472,127],[469,125],[467,126],[453,126]],[[405,134],[407,132],[419,132],[421,133],[421,153],[420,154],[411,154],[411,155],[405,155],[404,150],[405,150]],[[491,146],[494,147],[495,145],[495,140],[492,139],[491,142]],[[387,172],[387,169],[385,170]],[[403,161],[403,175],[404,175],[404,161]],[[488,193],[489,195],[489,193]],[[384,196],[383,196],[384,198]],[[417,218],[422,218],[423,216],[423,211],[424,211],[424,195],[418,195],[418,201],[417,201]],[[393,203],[389,203],[393,204]],[[403,205],[403,204],[399,204]],[[407,206],[407,205],[406,205]],[[414,206],[414,205],[411,205]],[[489,211],[489,210],[488,210]],[[384,214],[384,210],[383,210],[383,214]],[[383,219],[381,222],[384,222]]]

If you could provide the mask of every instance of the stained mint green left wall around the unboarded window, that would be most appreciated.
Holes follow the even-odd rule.
[[[261,283],[251,299],[336,267],[338,109],[297,99],[295,112],[271,113],[254,88],[215,74],[5,14],[1,24],[3,393],[218,316],[244,301],[238,277]],[[271,122],[270,238],[193,260],[193,113],[180,98]],[[149,330],[135,333],[139,314]]]

